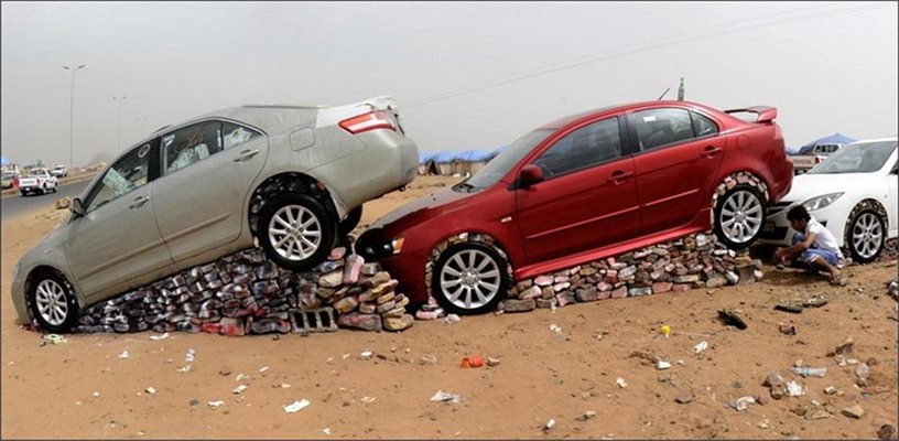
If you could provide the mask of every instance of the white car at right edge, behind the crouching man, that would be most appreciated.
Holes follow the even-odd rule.
[[[790,193],[769,208],[759,241],[790,245],[795,230],[787,212],[802,204],[853,261],[875,260],[899,233],[896,146],[896,138],[854,142],[793,178]]]

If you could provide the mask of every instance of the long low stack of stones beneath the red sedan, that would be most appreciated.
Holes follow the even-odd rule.
[[[501,308],[507,312],[564,306],[576,302],[680,292],[752,283],[763,277],[761,261],[727,249],[712,233],[521,280]]]

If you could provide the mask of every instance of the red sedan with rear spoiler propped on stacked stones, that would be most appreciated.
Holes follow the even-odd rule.
[[[751,112],[751,122],[730,114]],[[515,141],[472,178],[388,214],[357,250],[413,304],[491,311],[515,280],[712,227],[759,236],[792,184],[777,109],[650,101],[573,115]]]

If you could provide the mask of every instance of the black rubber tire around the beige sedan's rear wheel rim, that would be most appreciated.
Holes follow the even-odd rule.
[[[310,234],[317,232],[319,234],[319,241],[317,247],[310,247],[314,248],[314,251],[310,249],[308,251],[311,252],[305,257],[296,256],[295,258],[290,258],[289,256],[282,255],[275,249],[277,244],[273,244],[270,237],[269,230],[271,228],[272,218],[281,208],[286,206],[303,207],[306,213],[301,212],[301,216],[311,214],[315,216],[318,223],[318,228],[313,228],[314,232],[310,232]],[[314,227],[314,225],[311,227]],[[311,196],[299,193],[284,193],[266,202],[262,212],[259,214],[259,223],[257,224],[259,245],[262,247],[262,250],[266,251],[266,256],[279,267],[291,271],[306,271],[325,261],[331,254],[332,247],[334,247],[336,230],[336,222],[327,214],[327,211],[325,211],[322,204]],[[295,238],[293,243],[296,243]],[[303,245],[300,246],[302,247]],[[292,249],[291,246],[291,254]]]

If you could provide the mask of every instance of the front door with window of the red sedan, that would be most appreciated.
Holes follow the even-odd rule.
[[[633,160],[621,155],[621,122],[611,117],[582,126],[533,162],[544,180],[516,191],[529,262],[622,241],[639,229]]]

